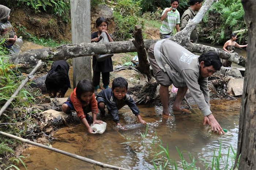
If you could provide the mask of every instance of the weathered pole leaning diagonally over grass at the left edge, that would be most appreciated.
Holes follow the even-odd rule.
[[[29,73],[29,75],[27,75],[27,77],[22,81],[22,83],[20,84],[20,86],[18,87],[18,89],[16,89],[16,91],[12,94],[11,98],[9,98],[9,100],[7,100],[7,102],[4,104],[4,106],[1,108],[0,110],[0,117],[3,114],[3,112],[5,111],[5,109],[7,109],[7,107],[11,104],[12,100],[14,100],[15,96],[17,96],[17,94],[19,93],[19,91],[23,88],[23,86],[25,86],[25,84],[29,81],[30,76],[32,76],[38,69],[39,67],[41,67],[42,65],[42,61],[39,60],[37,62],[37,65],[34,67],[34,69]]]

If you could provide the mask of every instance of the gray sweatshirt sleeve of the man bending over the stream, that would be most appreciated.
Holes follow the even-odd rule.
[[[210,97],[209,97],[209,91],[207,91],[208,87],[206,89],[207,81],[203,81],[200,86],[198,82],[199,74],[197,74],[195,71],[190,69],[183,70],[181,74],[185,79],[185,82],[191,93],[191,96],[196,101],[196,104],[198,108],[201,110],[202,114],[204,116],[210,115],[212,112],[210,110],[210,104],[209,104]]]

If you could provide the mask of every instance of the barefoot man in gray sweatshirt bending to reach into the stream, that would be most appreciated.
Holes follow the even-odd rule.
[[[204,115],[203,124],[208,123],[211,130],[224,134],[218,121],[210,110],[208,77],[220,70],[222,63],[214,51],[198,56],[172,40],[165,39],[154,43],[148,49],[148,59],[160,86],[160,98],[163,105],[163,117],[170,114],[169,86],[178,88],[173,111],[190,112],[181,109],[181,102],[189,89],[191,96]]]

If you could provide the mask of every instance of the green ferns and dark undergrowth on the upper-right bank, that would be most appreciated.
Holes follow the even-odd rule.
[[[246,42],[248,37],[244,9],[241,1],[237,0],[219,0],[218,3],[214,3],[199,27],[197,30],[200,30],[201,39],[212,44],[225,43],[231,38],[232,32],[237,33],[239,44]]]

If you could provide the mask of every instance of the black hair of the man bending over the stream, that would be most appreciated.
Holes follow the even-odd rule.
[[[215,70],[220,70],[222,63],[219,55],[215,51],[210,51],[208,53],[203,53],[198,58],[199,63],[204,62],[204,66],[212,66]]]

